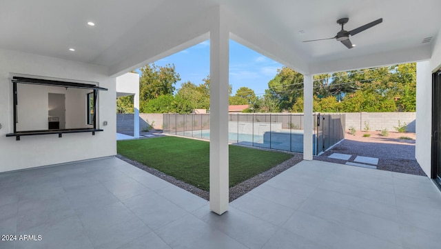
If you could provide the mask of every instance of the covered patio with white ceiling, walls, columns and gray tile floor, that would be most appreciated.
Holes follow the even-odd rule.
[[[441,112],[432,76],[441,68],[440,9],[433,0],[4,1],[0,233],[17,241],[0,248],[439,248],[441,197],[432,179],[441,183]],[[348,47],[334,39],[345,18],[347,30],[383,22],[351,36],[357,46]],[[209,203],[114,158],[117,77],[207,39]],[[305,96],[305,161],[232,203],[229,39],[302,73]],[[314,74],[405,62],[417,62],[416,159],[429,177],[313,161]],[[107,89],[92,109],[87,92],[70,103],[84,106],[68,117],[72,127],[87,121],[99,132],[36,132],[48,130],[54,90],[17,91],[14,77]],[[18,132],[37,134],[7,137],[17,123],[25,125]],[[23,235],[32,241],[18,241]]]

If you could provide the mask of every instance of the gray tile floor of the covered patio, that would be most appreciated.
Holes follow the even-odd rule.
[[[427,177],[302,161],[209,203],[114,157],[0,174],[0,248],[439,248]]]

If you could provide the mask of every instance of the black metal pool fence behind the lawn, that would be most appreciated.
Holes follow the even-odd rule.
[[[313,152],[318,155],[345,138],[345,114],[314,113]],[[230,143],[303,152],[300,113],[240,113],[228,115]],[[163,132],[209,140],[209,114],[164,114]]]

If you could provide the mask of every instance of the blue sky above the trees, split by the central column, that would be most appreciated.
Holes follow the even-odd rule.
[[[181,83],[192,81],[200,84],[209,75],[209,41],[172,54],[155,62],[158,66],[173,63],[176,72],[181,75],[181,81],[176,83],[176,89]],[[256,94],[265,93],[268,81],[274,78],[282,64],[251,50],[236,41],[229,41],[229,84],[233,92],[242,86],[251,88]]]

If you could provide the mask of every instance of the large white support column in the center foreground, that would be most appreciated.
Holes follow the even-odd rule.
[[[218,215],[228,210],[228,43],[222,8],[210,31],[209,86],[209,208]]]

